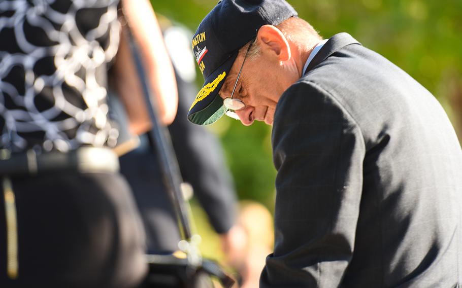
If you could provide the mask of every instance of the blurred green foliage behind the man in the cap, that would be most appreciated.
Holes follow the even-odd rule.
[[[324,38],[348,32],[403,68],[442,103],[462,138],[461,0],[289,0]],[[217,1],[152,1],[154,10],[195,31]],[[233,23],[229,23],[233,25]],[[201,75],[198,73],[198,75]],[[203,79],[198,80],[202,84]],[[271,127],[244,127],[223,117],[210,127],[220,136],[241,199],[272,209],[276,171]]]

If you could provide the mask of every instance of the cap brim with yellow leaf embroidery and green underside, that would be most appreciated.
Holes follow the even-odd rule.
[[[223,106],[223,99],[218,96],[218,92],[238,56],[238,52],[236,51],[231,55],[206,78],[202,89],[197,93],[194,102],[192,102],[189,108],[189,121],[194,124],[208,125],[220,119],[226,112]]]

